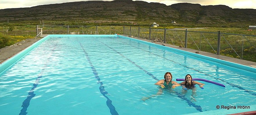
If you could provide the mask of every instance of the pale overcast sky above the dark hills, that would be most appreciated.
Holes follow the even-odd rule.
[[[66,3],[75,1],[89,1],[89,0],[0,0],[0,9],[6,8],[21,8],[33,7],[37,5]],[[113,1],[113,0],[103,0]],[[137,1],[137,0],[133,0]],[[198,3],[200,5],[226,5],[231,8],[251,8],[256,9],[256,0],[140,0],[150,2],[158,2],[166,5],[175,3]]]

